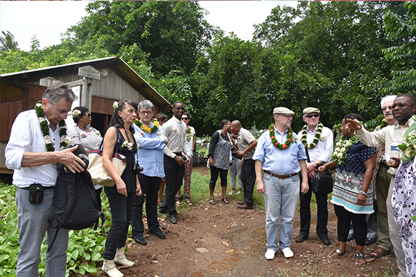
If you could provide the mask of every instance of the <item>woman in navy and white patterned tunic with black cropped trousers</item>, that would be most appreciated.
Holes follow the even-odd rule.
[[[341,131],[343,136],[347,137],[344,141],[354,142],[356,141],[354,140],[355,132],[353,129],[349,129],[348,118],[361,122],[364,120],[358,114],[347,114],[343,119]],[[356,239],[355,264],[363,266],[365,265],[363,250],[367,235],[365,215],[374,213],[371,180],[376,164],[376,150],[358,140],[353,145],[340,145],[337,147],[343,152],[346,151],[347,156],[345,159],[343,161],[338,159],[338,164],[330,161],[318,168],[318,172],[322,173],[325,169],[336,166],[331,203],[338,217],[338,249],[329,254],[328,258],[347,256],[347,237],[349,224],[352,221]],[[337,149],[334,150],[333,160],[336,153],[338,153]]]

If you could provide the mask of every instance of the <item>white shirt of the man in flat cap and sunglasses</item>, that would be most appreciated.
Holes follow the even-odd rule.
[[[318,125],[316,125],[315,129],[313,129],[313,132],[311,132],[309,127],[306,128],[306,141],[308,144],[312,143],[317,130]],[[302,139],[302,131],[297,134],[297,137]],[[321,141],[322,138],[325,138],[324,141]],[[328,127],[322,127],[321,139],[318,141],[314,148],[308,149],[309,159],[311,160],[311,163],[314,161],[323,161],[324,163],[327,163],[332,159],[333,134],[331,129]]]

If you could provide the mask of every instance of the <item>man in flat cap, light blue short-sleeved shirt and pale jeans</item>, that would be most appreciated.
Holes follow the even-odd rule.
[[[285,107],[273,110],[275,124],[270,125],[257,143],[253,160],[257,176],[257,192],[264,195],[266,208],[267,251],[265,258],[272,260],[279,248],[284,258],[292,258],[291,238],[299,191],[309,190],[306,154],[300,139],[291,129],[293,111]],[[261,175],[263,169],[263,176]],[[302,185],[299,186],[302,174]],[[277,246],[277,231],[280,233]]]

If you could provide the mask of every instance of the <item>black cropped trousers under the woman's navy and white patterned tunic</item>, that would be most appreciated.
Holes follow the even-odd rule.
[[[349,224],[352,222],[354,228],[354,237],[356,244],[363,247],[365,245],[365,238],[367,236],[367,222],[364,214],[351,213],[343,206],[333,205],[336,217],[338,217],[338,240],[340,242],[347,242]]]

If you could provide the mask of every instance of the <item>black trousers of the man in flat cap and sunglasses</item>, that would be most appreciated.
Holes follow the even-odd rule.
[[[306,237],[309,237],[309,229],[311,228],[311,197],[311,188],[306,194],[300,193],[300,233],[303,233]],[[315,193],[315,197],[318,206],[316,234],[321,238],[322,235],[328,235],[328,194]]]

